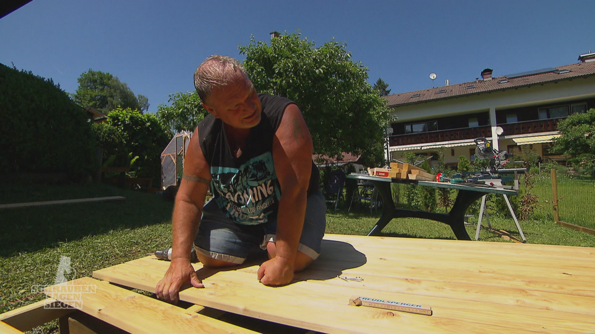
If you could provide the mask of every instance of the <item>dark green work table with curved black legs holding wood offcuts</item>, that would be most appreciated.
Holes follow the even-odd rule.
[[[365,180],[371,182],[374,187],[378,189],[380,197],[382,198],[383,212],[374,227],[369,231],[368,235],[380,235],[380,231],[390,223],[393,218],[421,218],[436,220],[437,222],[445,223],[452,229],[455,237],[458,240],[471,240],[469,234],[465,229],[465,212],[468,207],[476,200],[480,199],[486,194],[504,194],[504,195],[518,195],[518,191],[511,189],[502,189],[496,187],[481,187],[479,185],[464,185],[452,184],[449,182],[434,182],[434,181],[417,181],[409,179],[387,178],[387,177],[372,177],[370,175],[362,175],[352,173],[347,175],[347,178]],[[450,209],[449,213],[427,212],[423,210],[408,210],[401,209],[394,205],[393,195],[390,191],[391,183],[420,185],[423,187],[435,188],[449,188],[458,190],[455,203]]]

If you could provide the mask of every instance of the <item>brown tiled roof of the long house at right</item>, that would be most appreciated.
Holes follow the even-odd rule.
[[[569,70],[569,72],[564,70]],[[556,68],[547,68],[537,71],[537,74],[531,74],[531,72],[503,75],[501,77],[493,77],[491,80],[486,81],[480,79],[466,83],[451,84],[449,86],[392,94],[387,96],[389,99],[388,105],[391,107],[410,105],[431,100],[443,100],[449,99],[451,97],[494,92],[497,90],[531,86],[533,84],[550,83],[560,80],[569,80],[577,77],[588,77],[595,75],[595,62],[581,62],[578,64],[563,65]]]

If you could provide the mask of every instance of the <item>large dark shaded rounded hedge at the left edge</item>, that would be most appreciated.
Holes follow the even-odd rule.
[[[1,172],[61,172],[82,177],[97,168],[86,111],[52,79],[0,64]]]

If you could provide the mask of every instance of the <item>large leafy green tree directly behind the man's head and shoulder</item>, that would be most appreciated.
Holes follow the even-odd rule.
[[[244,67],[256,90],[297,103],[314,141],[314,152],[362,154],[367,162],[384,159],[383,130],[389,122],[386,99],[367,83],[368,68],[353,62],[345,44],[314,42],[300,33],[240,46]],[[371,163],[370,163],[371,164]]]

